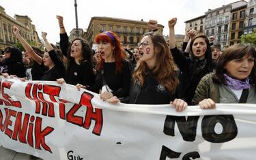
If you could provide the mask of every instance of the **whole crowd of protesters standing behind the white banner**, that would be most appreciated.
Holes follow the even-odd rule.
[[[167,104],[181,112],[189,105],[215,108],[216,103],[256,103],[255,48],[235,44],[221,50],[206,37],[187,29],[182,50],[175,46],[175,24],[171,18],[169,41],[156,33],[157,21],[150,20],[152,31],[145,33],[135,48],[122,46],[117,34],[104,31],[94,37],[92,50],[82,38],[69,42],[59,23],[60,48],[48,42],[42,32],[44,48],[33,48],[23,39],[18,27],[12,31],[23,45],[5,48],[0,57],[2,76],[20,80],[50,80],[76,85],[100,94],[109,103]]]

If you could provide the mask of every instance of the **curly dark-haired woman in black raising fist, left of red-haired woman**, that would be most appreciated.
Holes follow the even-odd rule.
[[[68,59],[66,78],[57,80],[60,84],[67,82],[76,85],[93,85],[95,76],[92,66],[92,49],[85,39],[76,38],[71,44],[63,25],[63,17],[57,16],[60,29],[60,47],[63,55]]]

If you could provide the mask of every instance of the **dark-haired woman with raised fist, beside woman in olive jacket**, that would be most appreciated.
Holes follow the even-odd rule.
[[[190,57],[186,57],[175,46],[174,26],[177,18],[169,20],[169,43],[173,59],[180,68],[180,94],[190,105],[195,95],[197,84],[205,74],[212,71],[212,53],[210,50],[209,40],[205,35],[193,37],[189,47]]]

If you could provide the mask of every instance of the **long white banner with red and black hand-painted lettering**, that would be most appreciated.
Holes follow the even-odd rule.
[[[256,105],[111,105],[69,84],[0,79],[0,144],[42,159],[254,159]]]

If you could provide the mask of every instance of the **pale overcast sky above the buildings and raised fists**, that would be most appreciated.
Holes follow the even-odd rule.
[[[87,29],[93,16],[108,16],[131,20],[158,20],[164,25],[164,35],[169,34],[168,20],[177,17],[175,34],[184,34],[184,21],[202,16],[214,9],[238,0],[76,0],[79,28]],[[74,0],[1,0],[6,14],[27,15],[33,21],[40,39],[41,32],[48,40],[59,42],[59,25],[56,15],[63,16],[67,33],[76,27]]]

